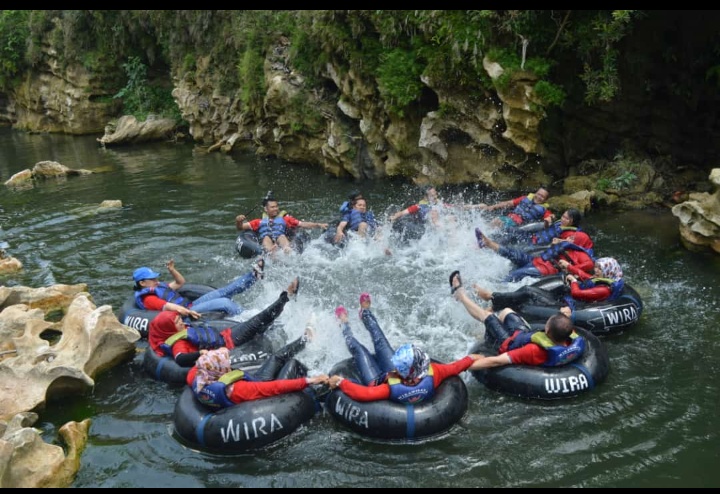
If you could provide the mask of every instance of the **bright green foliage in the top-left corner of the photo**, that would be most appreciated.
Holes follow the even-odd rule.
[[[25,70],[25,51],[30,35],[28,10],[0,10],[0,88],[8,89]]]

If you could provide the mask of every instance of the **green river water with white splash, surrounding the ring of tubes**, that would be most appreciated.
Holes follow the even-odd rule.
[[[260,214],[274,191],[299,219],[331,222],[354,188],[382,221],[419,199],[406,183],[351,183],[314,169],[254,156],[206,154],[190,145],[103,149],[94,138],[0,130],[2,179],[43,160],[97,173],[0,189],[0,241],[25,269],[7,285],[87,283],[98,305],[117,310],[131,294],[140,265],[161,273],[174,258],[185,277],[215,286],[250,269],[234,252],[235,215]],[[480,202],[474,188],[443,190],[445,199]],[[103,200],[119,209],[98,210]],[[421,240],[351,243],[337,251],[311,231],[302,255],[268,262],[266,279],[236,297],[246,315],[269,304],[300,276],[274,341],[315,321],[317,339],[302,354],[312,372],[349,356],[333,310],[350,310],[357,336],[358,296],[373,307],[390,341],[412,341],[452,360],[482,336],[449,294],[448,276],[506,289],[509,263],[475,245],[473,228],[489,217],[457,212],[455,222]],[[42,414],[48,440],[68,420],[92,419],[75,487],[671,487],[711,486],[720,446],[714,422],[718,395],[717,256],[679,244],[669,211],[595,213],[585,228],[596,252],[620,259],[645,302],[641,322],[608,338],[611,371],[592,393],[560,402],[532,402],[490,392],[465,376],[470,407],[447,437],[419,446],[387,446],[358,437],[319,415],[268,450],[217,457],[182,446],[171,434],[179,388],[143,374],[133,362],[99,376],[87,396],[51,404]],[[391,256],[384,253],[390,247]],[[515,284],[514,286],[519,286]],[[243,317],[243,316],[241,316]],[[144,346],[144,343],[139,344]],[[370,479],[370,480],[369,480]]]

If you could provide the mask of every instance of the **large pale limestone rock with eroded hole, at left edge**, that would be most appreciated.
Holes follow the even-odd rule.
[[[8,290],[17,288],[0,287],[6,295],[0,298],[3,306],[13,299]],[[38,307],[67,302],[67,291],[39,290],[49,294],[50,302],[37,296],[25,298],[33,299]],[[28,304],[4,309],[0,341],[11,346],[6,351],[12,353],[0,360],[0,419],[40,409],[49,398],[88,391],[98,373],[132,358],[139,338],[137,331],[117,320],[112,307],[96,308],[86,292],[74,296],[58,323],[40,318]]]

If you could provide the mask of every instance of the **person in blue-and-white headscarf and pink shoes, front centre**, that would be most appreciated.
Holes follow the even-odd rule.
[[[374,355],[353,336],[345,307],[339,306],[335,309],[345,343],[363,383],[335,375],[330,377],[330,389],[339,387],[343,393],[357,401],[420,403],[432,399],[435,388],[445,379],[467,370],[474,359],[479,358],[478,355],[468,355],[450,364],[439,364],[431,362],[427,353],[410,343],[393,351],[370,310],[370,305],[370,295],[360,295],[360,318],[372,337]]]

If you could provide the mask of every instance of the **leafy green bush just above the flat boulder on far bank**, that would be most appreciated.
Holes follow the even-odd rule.
[[[138,57],[130,57],[122,68],[128,81],[113,98],[122,100],[126,115],[133,115],[141,122],[149,114],[180,120],[180,112],[170,89],[151,84],[147,77],[147,66]]]

